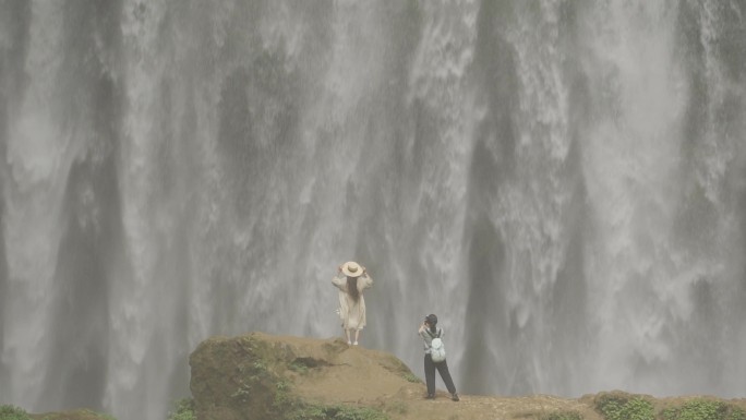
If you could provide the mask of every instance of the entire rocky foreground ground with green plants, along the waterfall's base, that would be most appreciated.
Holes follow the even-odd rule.
[[[213,337],[190,356],[191,398],[167,420],[746,420],[746,399],[654,398],[621,391],[579,399],[548,395],[461,395],[425,386],[390,353],[313,339],[254,333]],[[81,409],[41,415],[0,406],[0,420],[113,420]]]

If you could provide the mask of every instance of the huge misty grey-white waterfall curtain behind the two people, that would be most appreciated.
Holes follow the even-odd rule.
[[[464,393],[746,393],[739,1],[0,1],[0,404],[165,418],[217,334]]]

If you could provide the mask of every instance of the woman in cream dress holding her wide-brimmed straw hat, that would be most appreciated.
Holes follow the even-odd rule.
[[[365,326],[365,298],[363,290],[373,286],[373,279],[362,265],[349,261],[337,267],[332,284],[339,289],[339,317],[348,345],[358,345],[360,332]],[[354,332],[354,341],[351,340]]]

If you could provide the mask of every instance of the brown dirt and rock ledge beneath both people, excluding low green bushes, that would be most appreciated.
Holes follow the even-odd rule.
[[[303,418],[298,415],[302,407],[337,406],[375,409],[393,420],[603,420],[595,409],[601,395],[631,395],[613,392],[577,399],[460,395],[460,401],[452,401],[447,393],[438,392],[431,400],[424,398],[425,385],[419,377],[390,353],[348,346],[338,338],[264,333],[207,339],[191,355],[190,365],[200,420]],[[708,398],[642,397],[657,412],[693,398]],[[746,408],[743,399],[729,404]]]

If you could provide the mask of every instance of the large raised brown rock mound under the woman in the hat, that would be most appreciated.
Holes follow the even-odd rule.
[[[200,344],[190,365],[201,420],[282,419],[339,405],[385,410],[422,393],[420,380],[394,356],[340,339],[215,337]]]

